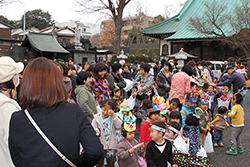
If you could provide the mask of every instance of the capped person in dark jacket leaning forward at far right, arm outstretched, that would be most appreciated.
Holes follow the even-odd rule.
[[[238,92],[240,89],[243,88],[242,93],[241,93],[243,97],[241,106],[244,108],[245,96],[247,94],[246,81],[244,77],[240,73],[235,71],[235,69],[232,66],[229,66],[227,68],[227,73],[229,75],[229,78],[226,81],[219,83],[219,84],[213,84],[213,86],[231,86],[233,84],[234,93]]]

